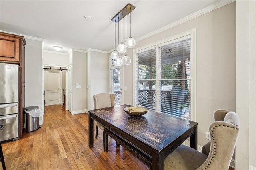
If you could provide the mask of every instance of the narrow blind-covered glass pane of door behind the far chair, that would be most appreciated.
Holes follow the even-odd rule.
[[[110,70],[110,91],[115,95],[115,105],[120,105],[120,94],[121,94],[121,86],[120,86],[120,68],[111,69]]]

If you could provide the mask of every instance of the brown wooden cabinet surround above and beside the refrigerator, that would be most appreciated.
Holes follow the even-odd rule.
[[[25,45],[23,36],[0,32],[0,62],[20,66],[20,136],[23,130],[25,108]]]

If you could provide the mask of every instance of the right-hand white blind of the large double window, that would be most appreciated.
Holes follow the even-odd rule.
[[[190,39],[164,45],[158,51],[159,110],[190,119]]]

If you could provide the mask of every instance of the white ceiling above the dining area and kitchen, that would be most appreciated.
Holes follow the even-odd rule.
[[[44,38],[44,49],[50,51],[54,51],[53,45],[62,46],[61,52],[70,48],[108,51],[114,48],[114,22],[110,19],[128,3],[136,7],[132,12],[132,36],[136,39],[216,2],[1,0],[0,30]]]

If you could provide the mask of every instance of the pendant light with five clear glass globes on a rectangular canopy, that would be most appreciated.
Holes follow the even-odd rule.
[[[111,59],[115,60],[116,66],[122,66],[122,65],[130,65],[131,59],[127,56],[126,48],[133,48],[136,44],[134,38],[131,36],[131,12],[135,9],[135,6],[131,4],[127,4],[120,12],[118,12],[111,20],[115,22],[115,50],[111,53],[110,57]],[[126,39],[125,44],[123,43],[123,18],[125,17],[125,38],[126,38],[126,16],[130,13],[130,37]],[[121,29],[121,43],[119,44],[119,21],[121,21],[122,29]],[[116,51],[116,23],[118,24],[118,46]],[[122,59],[120,58],[120,54],[124,57]]]

